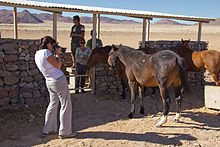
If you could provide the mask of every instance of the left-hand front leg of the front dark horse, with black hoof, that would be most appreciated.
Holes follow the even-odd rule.
[[[135,110],[135,91],[136,91],[136,82],[128,81],[130,90],[131,90],[131,112],[128,115],[129,118],[133,118],[134,110]]]

